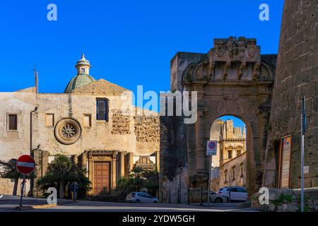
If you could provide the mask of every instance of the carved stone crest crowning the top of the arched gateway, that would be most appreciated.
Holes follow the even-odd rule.
[[[215,39],[214,47],[206,57],[199,62],[192,62],[184,70],[183,82],[273,82],[275,55],[264,55],[266,61],[261,57],[263,55],[254,38]]]

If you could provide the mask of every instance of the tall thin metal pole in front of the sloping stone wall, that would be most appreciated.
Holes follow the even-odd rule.
[[[305,133],[306,133],[306,99],[305,95],[302,96],[302,115],[301,115],[301,121],[302,121],[302,141],[301,141],[301,194],[300,194],[300,208],[301,211],[304,212],[304,162],[305,162]]]

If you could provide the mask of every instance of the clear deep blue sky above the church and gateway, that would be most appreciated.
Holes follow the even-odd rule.
[[[57,5],[57,21],[47,5]],[[269,4],[270,20],[259,20]],[[90,74],[136,91],[170,90],[176,52],[208,52],[213,38],[256,37],[262,54],[278,52],[283,0],[1,1],[0,91],[34,85],[61,93],[84,52]]]

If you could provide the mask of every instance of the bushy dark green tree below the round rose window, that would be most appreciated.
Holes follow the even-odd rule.
[[[90,181],[86,177],[87,170],[78,164],[73,164],[69,157],[58,155],[48,165],[47,173],[37,181],[37,186],[42,190],[49,187],[57,188],[58,198],[64,198],[66,186],[76,182],[80,186],[79,195],[85,196],[90,190]]]

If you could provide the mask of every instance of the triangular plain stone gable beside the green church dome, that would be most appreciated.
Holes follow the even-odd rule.
[[[122,88],[121,86],[114,83],[110,83],[109,81],[106,81],[104,79],[100,79],[81,88],[75,89],[72,91],[72,93],[79,95],[117,96],[122,95],[122,93],[124,93],[125,91],[129,90]]]

